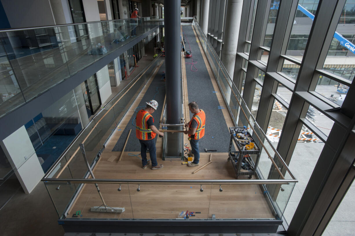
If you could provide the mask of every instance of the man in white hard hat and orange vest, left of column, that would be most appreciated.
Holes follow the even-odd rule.
[[[146,102],[146,108],[138,111],[136,116],[136,136],[141,143],[141,156],[142,156],[142,166],[143,169],[146,169],[150,162],[152,162],[152,170],[162,169],[163,165],[157,162],[157,148],[155,147],[154,138],[156,134],[164,136],[162,132],[160,132],[154,126],[154,119],[151,115],[158,108],[158,102],[155,100],[150,100]],[[147,161],[147,148],[149,149],[149,153],[151,159]]]

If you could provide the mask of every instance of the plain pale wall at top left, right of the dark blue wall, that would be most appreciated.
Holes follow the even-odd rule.
[[[1,0],[1,3],[11,28],[54,25],[48,0]]]

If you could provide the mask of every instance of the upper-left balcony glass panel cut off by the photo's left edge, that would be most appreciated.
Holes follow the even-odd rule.
[[[3,41],[0,34],[1,42]],[[7,46],[10,46],[7,44]],[[2,43],[0,44],[0,117],[25,103],[16,76],[7,59]]]

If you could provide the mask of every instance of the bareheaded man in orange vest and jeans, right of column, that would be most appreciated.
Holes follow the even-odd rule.
[[[185,127],[189,127],[189,130],[185,130],[184,134],[189,135],[191,153],[194,156],[193,162],[187,164],[188,167],[197,166],[200,162],[200,152],[198,151],[198,140],[204,135],[204,125],[206,122],[206,115],[202,109],[198,108],[196,102],[189,103],[189,110],[193,114],[189,123],[185,124]]]

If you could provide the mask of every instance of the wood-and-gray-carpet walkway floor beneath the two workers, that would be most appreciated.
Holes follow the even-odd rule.
[[[204,148],[217,148],[218,152],[212,154],[212,163],[201,169],[199,172],[192,172],[199,167],[189,168],[182,165],[181,161],[162,160],[162,139],[157,138],[157,159],[158,163],[164,165],[163,169],[151,170],[150,167],[142,169],[141,160],[131,154],[139,154],[139,144],[132,145],[123,153],[121,161],[118,161],[120,151],[112,151],[115,145],[123,146],[127,138],[128,130],[132,129],[129,141],[136,143],[135,127],[132,119],[135,117],[134,109],[142,106],[145,100],[144,95],[148,90],[152,90],[151,84],[156,81],[164,84],[160,79],[165,71],[164,63],[159,64],[152,77],[144,86],[140,95],[137,97],[130,110],[122,119],[115,134],[105,147],[98,163],[94,168],[94,175],[97,179],[235,179],[235,173],[228,158],[229,131],[233,122],[219,92],[214,75],[207,62],[207,58],[202,51],[202,46],[198,42],[195,30],[191,26],[182,27],[184,37],[189,40],[193,59],[197,72],[192,72],[190,64],[182,64],[184,74],[182,75],[185,92],[184,104],[187,101],[197,101],[200,108],[207,114],[206,135],[200,144],[200,166],[208,162],[210,153],[205,153]],[[186,40],[186,41],[187,41]],[[185,45],[189,50],[188,44]],[[185,62],[191,62],[191,58],[184,58]],[[192,70],[194,68],[192,67]],[[160,80],[160,81],[159,81]],[[155,82],[154,82],[155,81]],[[196,84],[200,85],[196,88]],[[153,86],[157,86],[154,84]],[[161,93],[161,91],[159,92]],[[152,96],[154,93],[152,94]],[[160,94],[161,95],[161,94]],[[162,104],[162,103],[159,103]],[[222,108],[222,109],[221,109]],[[159,109],[159,107],[158,107]],[[185,111],[189,109],[185,107]],[[160,107],[161,112],[161,107]],[[153,113],[160,118],[160,112]],[[190,113],[189,116],[191,116]],[[155,120],[158,126],[159,118]],[[187,120],[190,118],[188,117]],[[160,127],[161,129],[161,127]],[[189,143],[187,135],[184,135],[184,143]],[[190,144],[188,145],[190,146]],[[134,150],[134,147],[136,150]],[[120,149],[122,150],[122,148]],[[149,159],[149,153],[147,153]],[[242,176],[247,178],[247,176]],[[253,177],[254,178],[254,177]],[[99,195],[93,184],[85,184],[75,202],[69,209],[67,218],[72,218],[77,211],[81,212],[79,218],[110,218],[110,219],[175,219],[182,211],[189,210],[196,213],[191,219],[211,219],[212,214],[216,219],[274,219],[273,209],[269,201],[263,194],[260,185],[239,184],[222,185],[223,191],[219,191],[219,185],[200,185],[197,184],[141,184],[140,191],[137,191],[137,184],[122,184],[121,191],[118,191],[118,184],[99,184],[100,192],[108,206],[124,207],[124,213],[97,213],[91,212],[90,208],[102,204]]]

